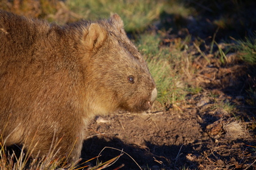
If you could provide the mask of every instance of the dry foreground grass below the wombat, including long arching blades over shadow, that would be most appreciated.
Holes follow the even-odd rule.
[[[90,160],[84,161],[83,163],[79,163],[77,161],[76,163],[68,164],[66,163],[66,158],[53,158],[54,153],[49,153],[50,155],[47,155],[43,158],[30,158],[31,154],[29,152],[26,152],[24,149],[24,146],[20,149],[20,154],[18,151],[5,151],[5,146],[0,143],[1,150],[0,150],[0,169],[1,170],[9,170],[9,169],[16,169],[16,170],[23,170],[23,169],[83,169],[83,168],[89,168],[89,161],[97,160],[97,165],[91,167],[90,169],[94,170],[100,170],[107,168],[109,166],[112,166],[116,160],[118,160],[119,157],[121,157],[123,154],[126,154],[126,152],[121,151],[121,154],[108,160],[105,162],[99,162],[98,158],[100,157],[100,154],[98,157],[91,158]],[[107,147],[106,147],[107,148]],[[109,148],[109,147],[108,147]],[[105,148],[104,148],[105,149]],[[115,148],[110,148],[115,149]],[[129,155],[130,157],[130,155]],[[135,161],[135,160],[133,160]],[[123,166],[119,166],[119,168],[122,168]],[[140,168],[140,166],[138,166]],[[119,169],[116,168],[116,169]]]

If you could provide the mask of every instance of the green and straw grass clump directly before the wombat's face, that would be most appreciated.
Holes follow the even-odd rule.
[[[158,33],[143,34],[138,38],[138,49],[148,62],[157,84],[157,101],[162,105],[176,104],[183,101],[191,91],[200,91],[199,87],[191,87],[188,82],[184,82],[187,78],[185,73],[191,72],[188,70],[192,56],[184,49],[188,39],[179,39],[168,46],[161,46],[162,38]]]

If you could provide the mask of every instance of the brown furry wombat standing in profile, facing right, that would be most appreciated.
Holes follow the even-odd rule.
[[[59,26],[0,10],[0,134],[32,155],[79,159],[88,120],[142,112],[155,82],[117,14]],[[57,147],[54,147],[57,144]]]

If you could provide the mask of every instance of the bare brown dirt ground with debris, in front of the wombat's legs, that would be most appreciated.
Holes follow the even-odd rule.
[[[221,69],[236,71],[219,74]],[[187,96],[185,104],[172,105],[165,111],[153,108],[147,113],[95,118],[82,157],[96,157],[107,146],[132,157],[123,154],[108,169],[123,164],[121,169],[256,169],[255,107],[246,105],[240,91],[246,84],[246,70],[243,65],[204,69],[194,77],[204,90]],[[215,75],[215,79],[207,74]],[[223,102],[237,107],[229,113],[222,107]],[[105,148],[99,161],[120,155],[115,149]],[[96,165],[96,159],[91,163]]]

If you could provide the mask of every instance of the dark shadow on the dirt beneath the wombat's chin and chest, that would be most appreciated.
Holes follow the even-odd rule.
[[[104,147],[113,147],[116,149],[123,150],[128,155],[123,154],[118,161],[108,169],[115,169],[118,166],[124,164],[123,169],[140,169],[141,168],[169,168],[170,166],[182,169],[184,163],[187,166],[193,166],[196,168],[198,165],[196,162],[188,160],[185,155],[189,154],[193,150],[193,146],[157,146],[155,144],[151,144],[146,142],[146,147],[141,148],[135,145],[128,145],[123,143],[123,141],[118,138],[113,138],[110,141],[105,140],[104,138],[93,137],[84,142],[84,148],[82,149],[82,158],[84,160],[88,160],[93,157],[97,157],[98,154],[104,149]],[[101,152],[101,156],[99,157],[99,161],[105,162],[108,161],[118,155],[120,155],[120,151],[116,151],[115,149],[105,148],[104,151]],[[134,160],[133,160],[134,159]],[[138,165],[135,163],[138,163]],[[92,160],[94,166],[96,165],[96,159]],[[192,167],[191,167],[192,168]]]

